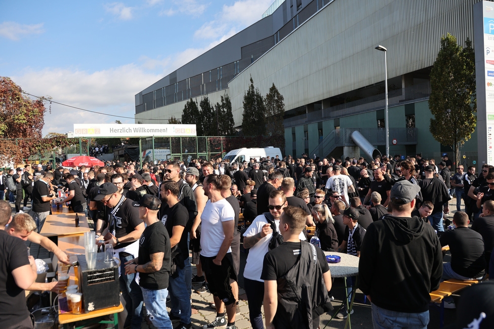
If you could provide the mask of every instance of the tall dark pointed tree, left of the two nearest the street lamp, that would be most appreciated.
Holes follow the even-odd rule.
[[[243,95],[242,135],[263,136],[266,132],[266,108],[259,88],[254,88],[251,76],[249,89]]]

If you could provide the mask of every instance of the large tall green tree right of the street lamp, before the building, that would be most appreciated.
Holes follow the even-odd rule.
[[[460,147],[471,138],[477,124],[475,55],[472,42],[457,44],[451,34],[441,37],[441,49],[431,70],[429,108],[434,115],[429,130],[436,141],[450,146],[456,164]]]

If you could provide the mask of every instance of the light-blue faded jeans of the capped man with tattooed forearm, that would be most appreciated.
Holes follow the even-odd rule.
[[[149,319],[153,325],[158,329],[172,329],[172,321],[167,311],[168,290],[166,288],[151,290],[141,287],[141,291],[144,303],[146,303],[146,310],[149,312]]]

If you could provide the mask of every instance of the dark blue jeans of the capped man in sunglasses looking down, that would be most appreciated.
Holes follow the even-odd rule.
[[[134,256],[120,256],[120,291],[125,300],[125,308],[127,310],[127,318],[125,319],[124,327],[130,326],[132,329],[140,329],[142,322],[142,291],[135,278],[136,273],[125,274],[125,262],[134,259]],[[168,295],[168,292],[167,292]],[[165,296],[166,299],[166,296]],[[147,306],[146,306],[147,309]],[[168,315],[167,315],[168,316]]]

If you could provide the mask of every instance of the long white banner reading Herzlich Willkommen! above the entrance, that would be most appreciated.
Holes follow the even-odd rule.
[[[74,124],[73,137],[196,136],[195,125]]]

